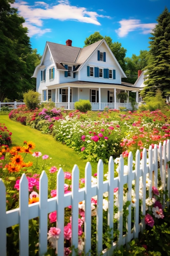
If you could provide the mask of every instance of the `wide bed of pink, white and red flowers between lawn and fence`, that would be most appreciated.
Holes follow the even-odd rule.
[[[16,112],[12,110],[9,117],[22,121],[23,107]],[[18,117],[20,115],[20,118]],[[17,118],[18,120],[17,120]],[[110,155],[114,158],[122,153],[124,157],[131,151],[149,148],[170,137],[170,112],[127,111],[103,112],[88,111],[86,114],[75,111],[63,111],[56,108],[42,108],[30,112],[26,125],[52,133],[57,141],[73,148],[80,157],[87,161],[108,162]]]

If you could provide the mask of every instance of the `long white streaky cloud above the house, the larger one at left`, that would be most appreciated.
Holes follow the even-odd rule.
[[[75,20],[79,22],[101,25],[98,17],[110,18],[109,16],[99,15],[95,11],[88,11],[85,7],[72,6],[68,0],[60,0],[57,4],[49,5],[43,1],[36,1],[34,6],[28,2],[14,2],[13,7],[18,9],[20,16],[25,19],[25,26],[29,28],[29,36],[35,34],[41,36],[51,29],[42,29],[43,20]],[[37,31],[35,33],[35,31]]]

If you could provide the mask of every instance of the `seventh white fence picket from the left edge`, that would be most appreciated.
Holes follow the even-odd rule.
[[[102,252],[103,239],[103,162],[100,159],[97,164],[97,216],[96,216],[96,240],[97,255]]]

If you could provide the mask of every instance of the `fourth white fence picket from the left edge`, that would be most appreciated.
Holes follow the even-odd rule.
[[[64,256],[64,172],[62,168],[57,173],[57,228],[61,230],[57,241],[58,255]]]

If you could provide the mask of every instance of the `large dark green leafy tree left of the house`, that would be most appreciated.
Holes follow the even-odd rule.
[[[1,0],[0,4],[0,101],[20,99],[23,92],[35,89],[31,76],[40,59],[31,49],[24,18],[11,7],[13,2]]]

